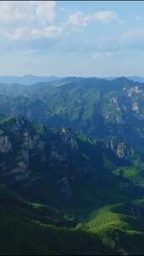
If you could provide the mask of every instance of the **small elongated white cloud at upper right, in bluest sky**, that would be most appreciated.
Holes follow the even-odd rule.
[[[86,26],[89,21],[109,22],[112,20],[120,20],[114,11],[102,11],[97,13],[84,14],[82,12],[72,13],[68,17],[68,24],[73,26]]]

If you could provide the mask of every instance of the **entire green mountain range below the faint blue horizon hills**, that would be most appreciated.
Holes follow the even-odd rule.
[[[0,84],[0,254],[144,253],[144,84]]]

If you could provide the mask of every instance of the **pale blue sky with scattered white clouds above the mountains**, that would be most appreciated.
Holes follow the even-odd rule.
[[[0,1],[0,75],[144,76],[143,1]]]

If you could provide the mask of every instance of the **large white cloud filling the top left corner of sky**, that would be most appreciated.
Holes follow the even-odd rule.
[[[42,24],[55,19],[55,1],[0,1],[0,21],[40,20]]]

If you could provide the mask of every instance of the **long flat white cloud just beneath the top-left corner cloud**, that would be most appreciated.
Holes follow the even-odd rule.
[[[39,29],[21,28],[0,30],[0,35],[8,40],[36,40],[40,38],[57,38],[61,35],[61,28],[55,26],[42,27]]]

